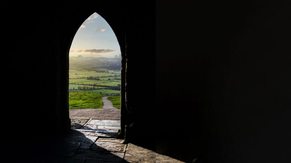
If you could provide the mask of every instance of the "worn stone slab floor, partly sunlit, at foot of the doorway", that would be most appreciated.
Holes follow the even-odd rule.
[[[70,134],[50,143],[44,159],[40,162],[181,162],[118,139],[119,128],[118,120],[90,119],[80,129],[71,130]]]

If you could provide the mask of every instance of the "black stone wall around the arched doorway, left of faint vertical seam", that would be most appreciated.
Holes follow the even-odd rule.
[[[1,11],[7,154],[21,147],[20,160],[37,161],[45,142],[70,129],[68,52],[94,12],[110,24],[121,49],[122,135],[155,150],[155,1],[2,1],[1,6],[7,9]]]

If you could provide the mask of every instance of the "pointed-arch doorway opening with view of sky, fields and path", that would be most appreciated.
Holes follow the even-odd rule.
[[[120,87],[119,43],[106,20],[94,12],[77,30],[69,51],[71,128],[118,133]]]

